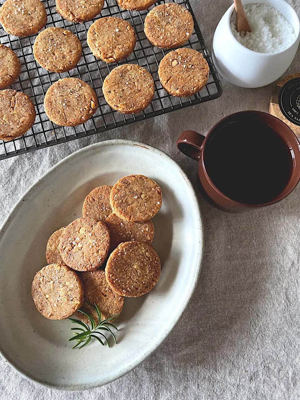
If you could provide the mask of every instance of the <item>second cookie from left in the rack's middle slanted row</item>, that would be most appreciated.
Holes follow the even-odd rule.
[[[80,40],[69,30],[51,27],[38,34],[33,45],[36,61],[51,72],[67,72],[81,58]]]

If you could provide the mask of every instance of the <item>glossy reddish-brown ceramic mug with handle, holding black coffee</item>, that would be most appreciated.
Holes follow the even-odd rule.
[[[228,124],[235,122],[237,118],[245,118],[245,123],[247,120],[249,120],[249,118],[251,118],[251,121],[257,121],[258,123],[262,123],[272,128],[272,130],[276,131],[280,135],[290,150],[292,162],[289,179],[284,189],[281,190],[276,197],[263,204],[246,204],[245,202],[233,200],[228,195],[226,196],[212,182],[206,168],[206,144],[209,143],[210,138],[213,137],[212,135],[214,135],[216,132],[220,132],[220,130],[228,126]],[[294,190],[300,180],[300,145],[297,137],[284,122],[264,112],[242,111],[231,114],[213,126],[206,136],[198,134],[194,131],[184,131],[177,140],[177,146],[182,153],[198,161],[198,176],[200,179],[200,188],[202,189],[202,193],[214,206],[224,211],[242,212],[248,210],[249,208],[258,208],[274,204],[288,196],[288,194]]]

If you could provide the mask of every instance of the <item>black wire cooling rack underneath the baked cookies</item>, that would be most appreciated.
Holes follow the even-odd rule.
[[[168,0],[170,2],[172,0]],[[0,0],[2,4],[4,0]],[[12,88],[20,90],[30,96],[36,106],[36,121],[34,126],[24,136],[10,142],[0,141],[0,160],[16,156],[54,144],[68,142],[76,138],[82,138],[106,130],[131,124],[132,122],[145,120],[167,112],[180,110],[194,104],[206,102],[218,98],[222,94],[222,87],[218,79],[218,74],[212,62],[212,58],[206,48],[204,38],[201,34],[198,22],[192,11],[192,7],[187,0],[174,0],[178,4],[185,6],[193,16],[194,31],[184,47],[193,48],[202,52],[210,67],[208,82],[201,92],[190,98],[178,98],[170,96],[161,86],[158,78],[158,65],[163,56],[167,53],[164,50],[152,46],[144,34],[144,19],[148,10],[141,12],[129,12],[122,10],[116,0],[106,0],[101,14],[98,16],[117,16],[130,22],[136,31],[136,48],[134,52],[122,62],[106,64],[101,60],[96,60],[86,43],[86,34],[93,21],[83,24],[72,23],[64,20],[55,8],[55,0],[44,0],[44,6],[48,15],[46,28],[50,26],[60,26],[74,32],[82,44],[82,58],[78,66],[63,74],[48,72],[36,63],[33,57],[32,47],[36,35],[27,38],[17,38],[10,36],[0,28],[0,43],[9,46],[19,57],[22,68],[21,74]],[[158,1],[154,6],[165,3]],[[97,18],[96,18],[97,19]],[[108,73],[117,65],[132,62],[139,64],[151,72],[155,83],[155,95],[150,106],[143,112],[134,115],[123,115],[114,111],[108,106],[102,94],[102,84]],[[44,111],[44,96],[47,89],[60,78],[77,77],[92,86],[98,96],[99,108],[97,112],[85,124],[74,128],[56,126],[53,124]]]

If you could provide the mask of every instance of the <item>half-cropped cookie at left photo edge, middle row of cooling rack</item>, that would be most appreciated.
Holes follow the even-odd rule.
[[[0,44],[0,90],[16,82],[21,72],[21,63],[11,48]]]

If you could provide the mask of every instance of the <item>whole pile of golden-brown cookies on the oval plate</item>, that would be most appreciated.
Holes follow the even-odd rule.
[[[122,311],[124,296],[142,296],[154,288],[160,260],[151,246],[151,218],[161,204],[160,187],[143,175],[125,176],[114,186],[92,190],[84,200],[82,217],[48,240],[48,265],[32,282],[38,311],[54,320],[76,314],[89,323],[76,312],[81,308],[97,323],[90,304],[98,305],[104,319],[111,318]]]

